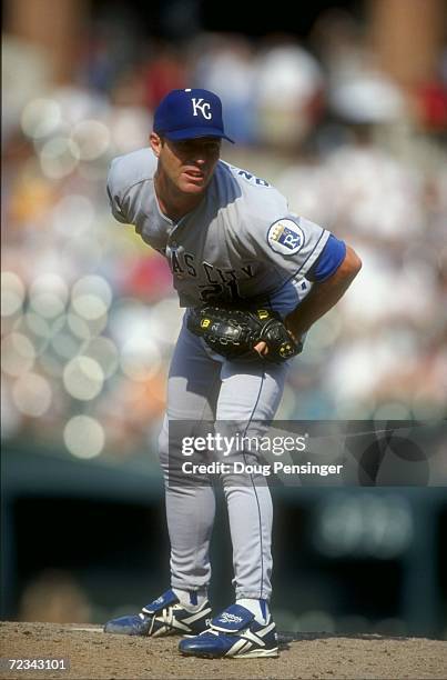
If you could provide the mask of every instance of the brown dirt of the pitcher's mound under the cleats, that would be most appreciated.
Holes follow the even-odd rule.
[[[278,659],[181,657],[177,638],[105,634],[96,627],[0,622],[0,678],[447,678],[447,642],[380,636],[282,636]],[[65,659],[68,670],[8,670],[7,659]]]

